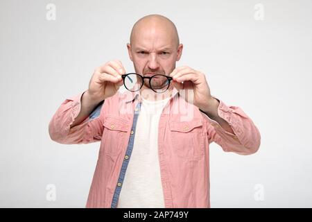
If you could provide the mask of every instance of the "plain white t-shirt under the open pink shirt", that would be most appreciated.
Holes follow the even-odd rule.
[[[147,101],[142,98],[135,143],[119,196],[119,208],[164,207],[158,159],[158,124],[169,98]]]

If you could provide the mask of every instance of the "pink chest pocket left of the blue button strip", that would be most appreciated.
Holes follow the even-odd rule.
[[[121,117],[109,115],[103,123],[103,137],[100,153],[117,155],[125,145],[125,135],[128,132],[129,122]]]

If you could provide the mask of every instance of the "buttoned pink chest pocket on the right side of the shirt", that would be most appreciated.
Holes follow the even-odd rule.
[[[173,155],[187,160],[200,160],[204,155],[202,119],[171,121],[169,125]]]

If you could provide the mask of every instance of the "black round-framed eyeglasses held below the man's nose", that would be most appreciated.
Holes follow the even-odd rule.
[[[170,76],[164,76],[156,74],[155,76],[141,76],[139,74],[130,73],[121,75],[123,78],[123,85],[131,92],[137,92],[148,81],[150,89],[154,92],[165,92],[170,85],[172,78]],[[145,81],[146,80],[146,81]]]

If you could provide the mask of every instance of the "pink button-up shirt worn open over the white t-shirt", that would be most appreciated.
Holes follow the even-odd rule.
[[[98,162],[86,207],[116,207],[122,187],[121,175],[130,160],[138,94],[115,94],[105,99],[98,117],[88,117],[70,128],[80,112],[82,94],[66,99],[49,123],[53,141],[87,144],[101,141]],[[220,100],[219,100],[220,101]],[[239,107],[220,101],[218,114],[232,127],[225,131],[176,91],[159,119],[158,155],[165,207],[210,207],[209,144],[240,155],[257,152],[260,133]]]

